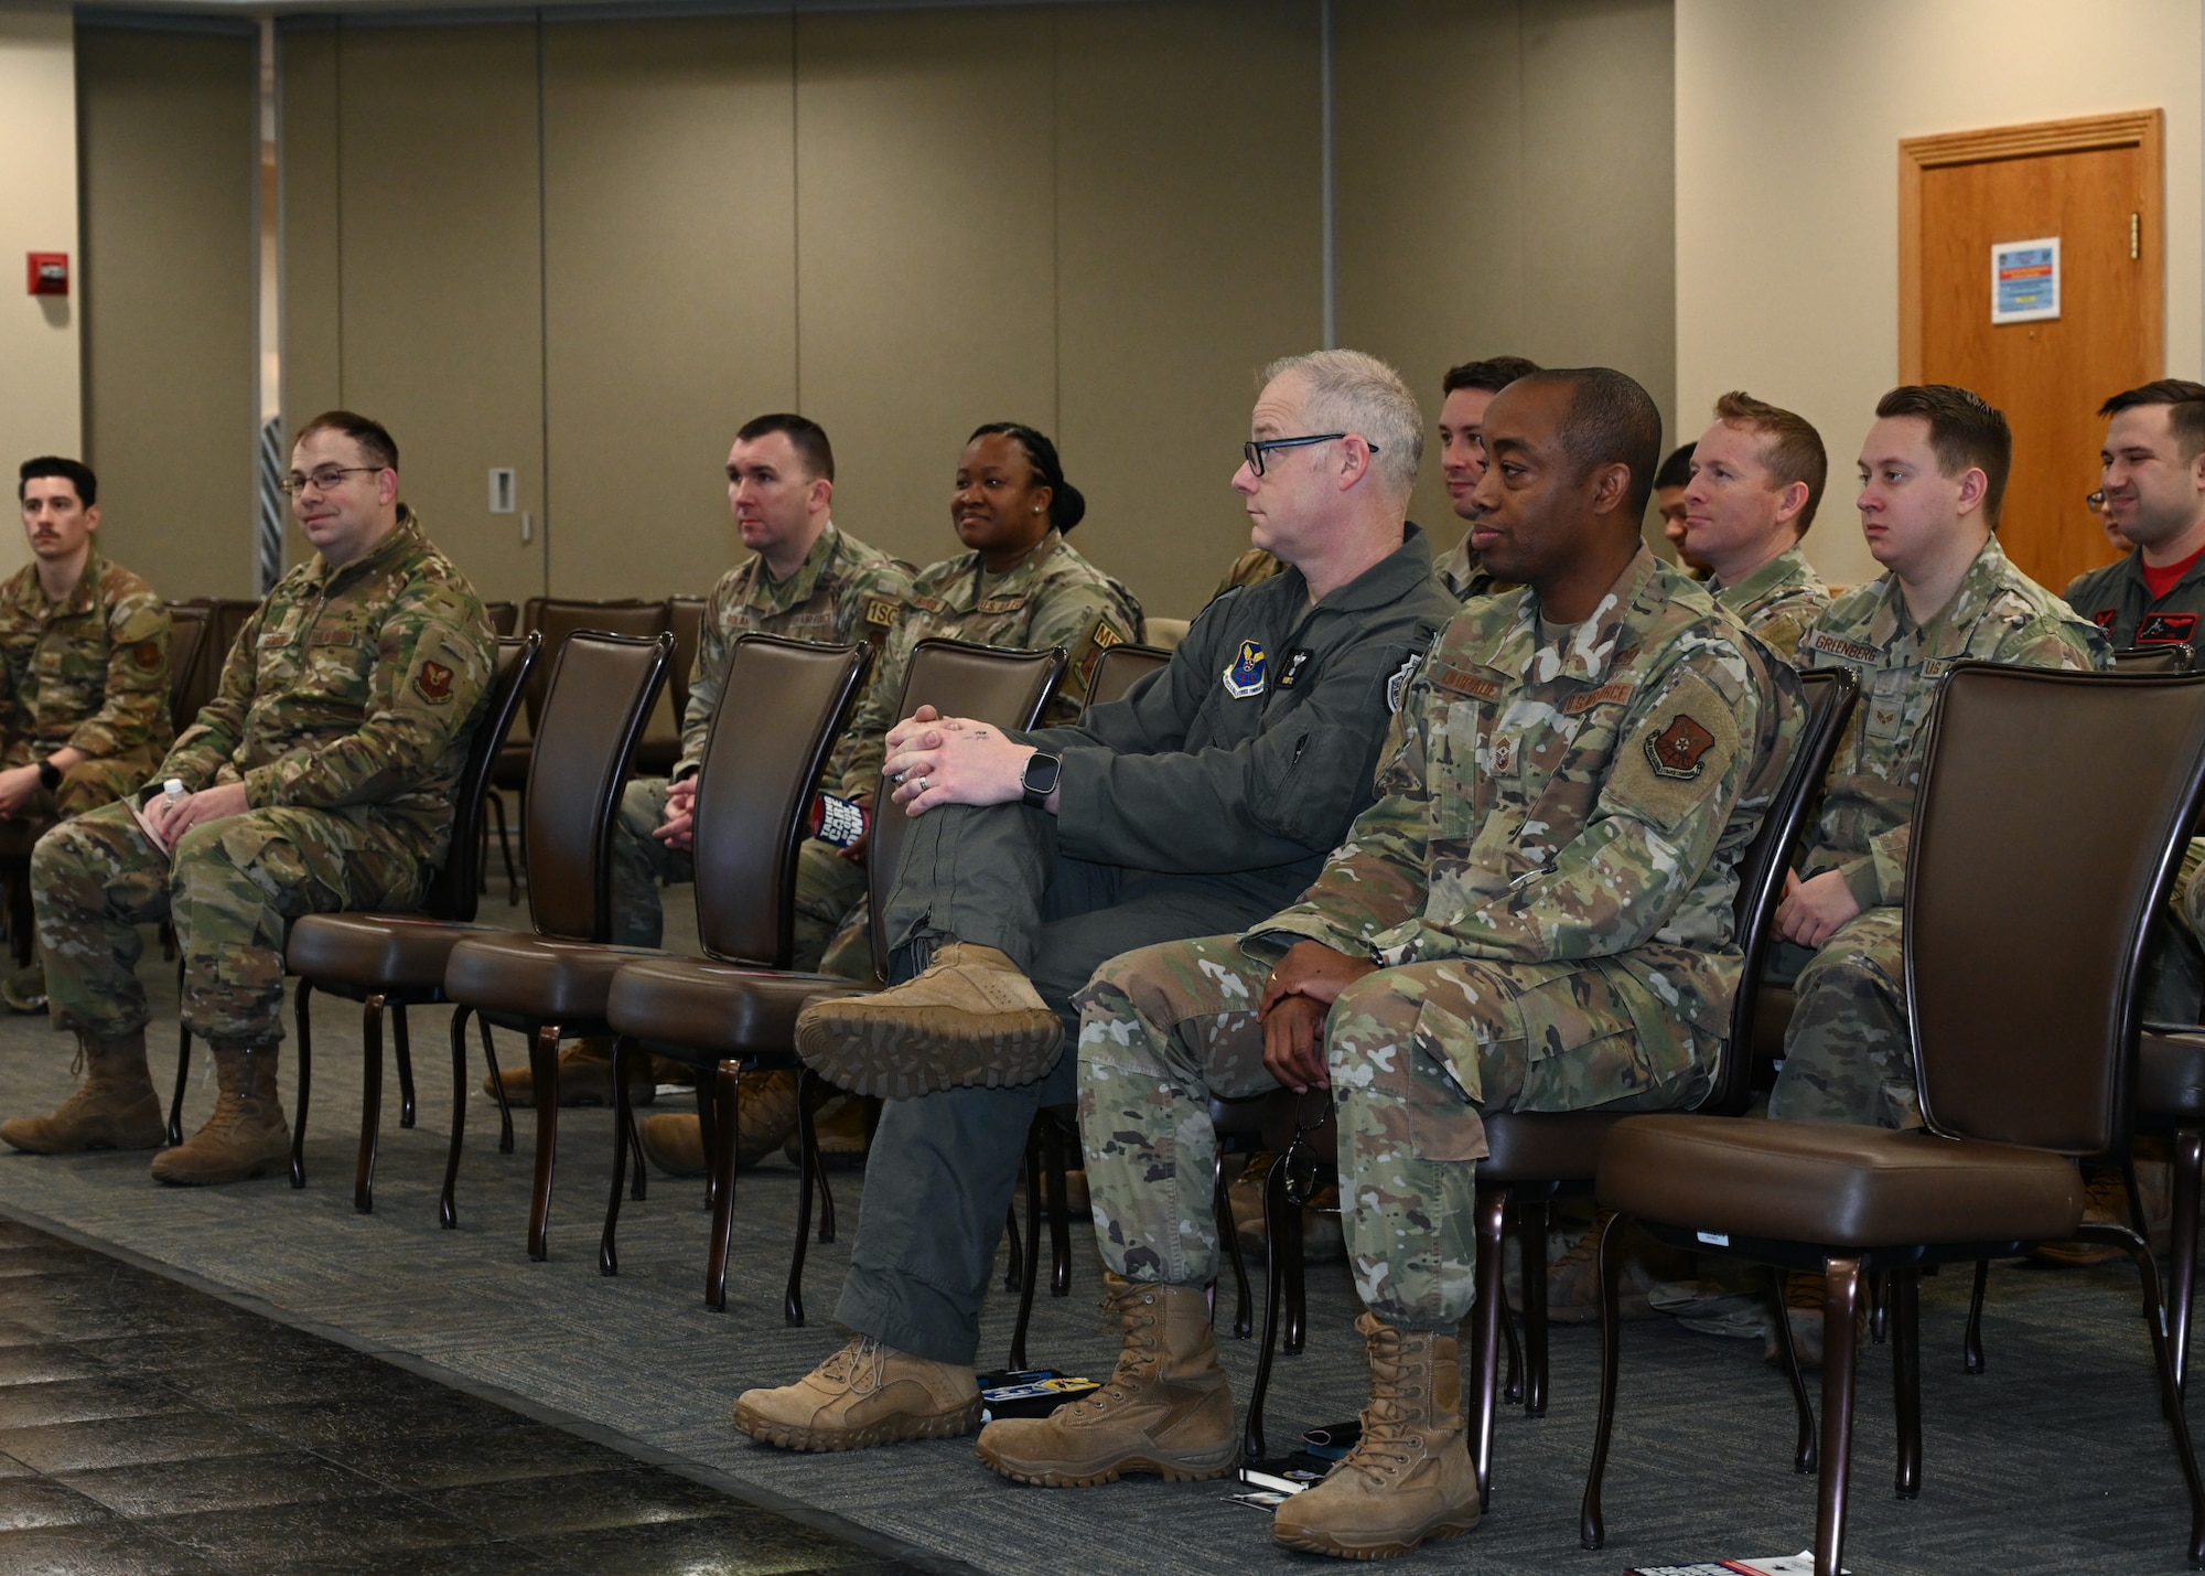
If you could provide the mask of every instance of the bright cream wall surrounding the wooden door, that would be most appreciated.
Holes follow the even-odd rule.
[[[1899,382],[1899,139],[2163,108],[2168,375],[2205,358],[2205,22],[2194,0],[1676,2],[1678,395],[1751,388],[1830,446],[1808,558],[1881,569],[1854,459]],[[2115,391],[2104,391],[2115,393]]]

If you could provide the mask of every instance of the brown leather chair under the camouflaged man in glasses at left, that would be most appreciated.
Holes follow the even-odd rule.
[[[313,991],[362,1004],[359,1159],[353,1170],[353,1207],[375,1210],[375,1154],[384,1110],[384,1013],[399,1064],[399,1126],[415,1126],[412,1044],[406,1009],[445,1000],[443,965],[461,936],[474,934],[483,876],[483,803],[490,768],[520,711],[520,691],[542,651],[540,636],[498,640],[498,667],[467,764],[452,797],[452,850],[430,885],[421,914],[309,914],[291,925],[284,967],[298,976],[298,1106],[291,1119],[291,1185],[306,1185],[306,1090],[313,1079]],[[465,1101],[461,1086],[454,1097]],[[448,1221],[450,1225],[450,1221]]]

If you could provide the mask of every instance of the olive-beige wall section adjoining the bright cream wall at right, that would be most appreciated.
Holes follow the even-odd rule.
[[[1338,7],[1341,342],[1440,375],[1618,366],[1676,408],[1669,0]],[[1416,519],[1453,545],[1435,452]]]

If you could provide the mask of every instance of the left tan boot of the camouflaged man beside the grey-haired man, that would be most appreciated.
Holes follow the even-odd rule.
[[[1109,1384],[1047,1417],[988,1424],[979,1459],[1014,1483],[1045,1488],[1116,1483],[1125,1472],[1173,1483],[1224,1477],[1239,1461],[1239,1430],[1202,1287],[1102,1280],[1102,1311],[1125,1331]]]

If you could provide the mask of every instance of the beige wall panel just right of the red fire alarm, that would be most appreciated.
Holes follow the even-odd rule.
[[[77,33],[86,461],[99,541],[163,596],[251,596],[251,29]]]

